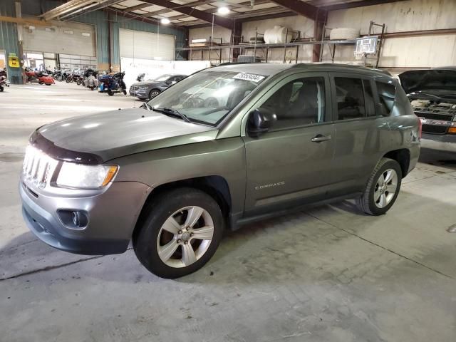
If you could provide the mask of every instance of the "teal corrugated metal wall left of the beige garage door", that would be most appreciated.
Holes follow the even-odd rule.
[[[13,0],[0,1],[0,16],[16,16]],[[9,53],[16,53],[16,56],[19,56],[16,24],[0,21],[0,50],[6,51],[6,59],[8,59]],[[6,61],[6,65],[8,65],[8,61]],[[22,83],[20,68],[10,68],[9,66],[6,68],[11,83]]]

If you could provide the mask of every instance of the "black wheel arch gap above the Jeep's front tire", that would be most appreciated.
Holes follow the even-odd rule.
[[[229,224],[229,214],[232,208],[232,199],[228,182],[222,176],[211,175],[189,178],[185,180],[176,180],[174,182],[164,183],[155,187],[147,196],[147,199],[142,205],[138,220],[135,224],[135,229],[133,230],[133,236],[139,231],[142,222],[147,217],[147,213],[149,212],[155,198],[159,197],[163,192],[174,190],[179,187],[191,187],[193,189],[201,190],[202,192],[207,193],[207,195],[212,197],[215,202],[219,204],[219,207],[222,210],[222,214],[225,219],[225,223]]]

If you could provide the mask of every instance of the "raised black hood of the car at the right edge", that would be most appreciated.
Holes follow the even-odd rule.
[[[430,69],[405,71],[399,75],[400,84],[405,93],[426,90],[456,92],[456,69]]]

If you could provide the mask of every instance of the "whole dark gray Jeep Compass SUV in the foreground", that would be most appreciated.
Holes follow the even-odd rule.
[[[385,214],[419,153],[418,117],[387,73],[227,64],[142,108],[38,128],[19,191],[43,242],[115,254],[133,240],[149,271],[175,278],[209,261],[225,228],[342,199]]]

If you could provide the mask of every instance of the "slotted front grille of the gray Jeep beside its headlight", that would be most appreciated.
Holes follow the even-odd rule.
[[[48,184],[48,177],[57,165],[57,160],[49,157],[35,147],[28,146],[22,175],[26,182],[30,182],[37,187],[43,188]]]

